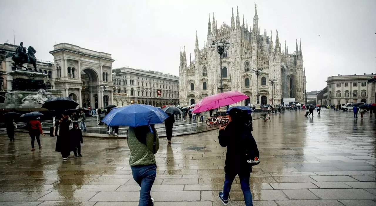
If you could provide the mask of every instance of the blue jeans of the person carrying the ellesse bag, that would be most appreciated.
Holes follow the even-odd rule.
[[[229,198],[229,193],[231,190],[231,185],[233,180],[236,177],[236,173],[233,174],[224,174],[224,184],[223,184],[223,199],[227,200]],[[246,202],[246,206],[253,206],[252,204],[252,194],[251,190],[249,188],[249,176],[250,173],[248,174],[238,174],[239,179],[240,179],[240,186],[241,190],[243,191],[244,195],[244,201]]]

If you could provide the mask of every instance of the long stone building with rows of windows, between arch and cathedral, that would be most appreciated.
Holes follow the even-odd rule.
[[[133,68],[112,70],[114,105],[179,105],[179,77]],[[194,90],[194,85],[193,90]],[[203,85],[206,86],[206,85]],[[161,90],[161,95],[158,95]]]

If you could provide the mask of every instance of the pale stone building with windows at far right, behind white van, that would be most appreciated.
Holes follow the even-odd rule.
[[[327,79],[327,105],[344,105],[352,102],[374,102],[368,91],[367,82],[373,77],[373,74],[345,75],[328,77]],[[321,101],[321,104],[324,104]]]

